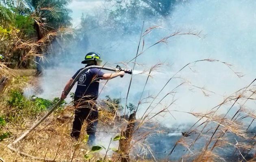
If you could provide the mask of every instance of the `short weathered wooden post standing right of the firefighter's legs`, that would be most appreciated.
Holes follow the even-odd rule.
[[[119,151],[120,151],[120,157],[121,162],[129,162],[129,153],[130,153],[130,142],[132,139],[132,134],[135,127],[135,119],[136,119],[136,113],[132,113],[129,117],[129,122],[127,125],[127,128],[124,132],[122,132],[122,136],[125,138],[121,138],[119,141]]]

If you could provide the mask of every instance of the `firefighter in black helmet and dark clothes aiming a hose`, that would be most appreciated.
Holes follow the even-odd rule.
[[[102,60],[100,59],[100,54],[95,52],[90,52],[85,55],[85,60],[82,64],[86,64],[85,67],[92,65],[100,65]],[[78,75],[81,69],[79,69],[76,74],[66,83],[65,88],[61,94],[61,98],[65,99],[65,91],[74,81],[75,77]],[[87,122],[87,134],[89,135],[88,143],[93,145],[95,141],[95,131],[98,124],[98,110],[96,107],[96,99],[98,98],[99,91],[99,81],[100,79],[108,80],[115,77],[123,77],[124,71],[116,73],[104,73],[98,68],[91,68],[80,75],[74,96],[74,107],[75,118],[73,122],[71,137],[78,140],[80,136],[80,131],[84,121]]]

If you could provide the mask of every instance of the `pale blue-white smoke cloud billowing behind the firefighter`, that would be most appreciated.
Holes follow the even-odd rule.
[[[174,36],[169,38],[168,43],[159,43],[141,54],[137,58],[138,65],[135,66],[128,102],[137,105],[150,67],[159,62],[162,62],[163,65],[157,71],[152,72],[152,77],[145,87],[143,98],[156,95],[172,75],[187,63],[195,60],[207,58],[221,60],[232,64],[232,70],[242,72],[244,76],[237,77],[234,71],[220,62],[205,61],[191,64],[167,84],[152,106],[154,107],[163,96],[180,83],[184,81],[186,83],[178,87],[175,93],[168,95],[153,110],[150,109],[152,114],[160,111],[165,105],[169,105],[173,99],[176,102],[171,105],[169,110],[209,111],[221,103],[225,96],[251,83],[255,78],[256,70],[256,66],[254,66],[256,63],[255,8],[256,1],[254,0],[191,0],[187,3],[178,4],[168,17],[138,18],[135,23],[137,26],[142,26],[144,20],[144,30],[150,26],[161,25],[161,28],[154,29],[145,36],[144,49],[177,30],[180,32],[202,31],[201,34],[206,35],[206,37]],[[74,75],[76,70],[83,67],[80,62],[87,52],[100,53],[106,66],[115,67],[118,62],[130,61],[136,55],[139,35],[139,30],[130,34],[120,34],[111,30],[106,32],[106,30],[99,28],[87,31],[87,41],[80,42],[86,46],[85,51],[79,51],[80,49],[74,46],[74,48],[70,47],[72,52],[65,55],[61,60],[59,55],[49,58],[50,62],[56,66],[46,67],[40,80],[43,93],[39,97],[48,99],[59,97],[65,82]],[[128,68],[132,66],[132,63],[128,64]],[[146,72],[141,74],[144,70]],[[106,95],[110,95],[113,98],[121,98],[124,104],[129,81],[130,75],[127,74],[123,78],[108,81],[99,99],[104,99]],[[101,81],[101,83],[100,90],[105,81]],[[197,87],[204,87],[211,91],[207,92],[210,96],[205,96],[202,90]],[[149,101],[151,100],[149,99]],[[148,103],[140,105],[138,117],[141,117],[148,105]],[[169,113],[154,119],[169,128],[174,124],[195,121],[195,117],[192,115],[178,111],[171,111],[176,119]],[[223,107],[219,113],[226,113],[226,111],[227,109]],[[169,136],[175,137],[175,134],[169,134]],[[106,141],[108,140],[106,139]]]

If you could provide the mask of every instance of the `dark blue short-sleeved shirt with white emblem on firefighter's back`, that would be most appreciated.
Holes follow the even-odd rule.
[[[78,75],[82,69],[83,68],[79,69],[72,79],[75,79],[76,75]],[[93,100],[98,98],[100,79],[102,79],[104,75],[104,72],[100,70],[101,69],[98,68],[91,68],[80,75],[77,80],[76,97],[88,97]]]

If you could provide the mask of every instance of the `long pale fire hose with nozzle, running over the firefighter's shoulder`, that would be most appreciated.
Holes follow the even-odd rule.
[[[124,69],[121,68],[120,66],[117,65],[116,68],[109,68],[109,67],[104,67],[104,66],[88,66],[83,68],[78,75],[76,75],[74,81],[71,83],[71,85],[69,86],[69,88],[67,89],[67,91],[64,92],[65,96],[67,96],[67,94],[69,94],[70,90],[72,89],[72,87],[75,85],[76,81],[78,80],[78,78],[80,77],[80,75],[82,75],[85,71],[91,69],[91,68],[98,68],[98,69],[102,69],[102,70],[109,70],[109,71],[114,71],[114,72],[119,72],[119,71],[124,71],[125,73],[128,74],[132,74],[132,70],[131,69]],[[9,145],[7,145],[7,147],[11,150],[14,151],[16,153],[19,153],[20,155],[23,156],[27,156],[29,158],[35,159],[35,160],[44,160],[46,162],[56,162],[57,160],[52,160],[52,159],[46,159],[46,158],[39,158],[36,156],[31,156],[27,153],[21,152],[15,148],[12,147],[12,145],[14,145],[15,143],[18,143],[19,141],[21,141],[22,139],[24,139],[31,131],[33,131],[39,124],[41,124],[41,122],[43,122],[63,101],[64,99],[60,99],[58,102],[56,102],[56,104],[54,104],[52,106],[52,108],[50,109],[50,111],[48,111],[43,117],[41,117],[41,119],[39,119],[39,121],[37,123],[35,123],[33,126],[31,126],[26,132],[24,132],[19,138],[17,138],[15,141],[13,141],[12,143],[10,143]]]

